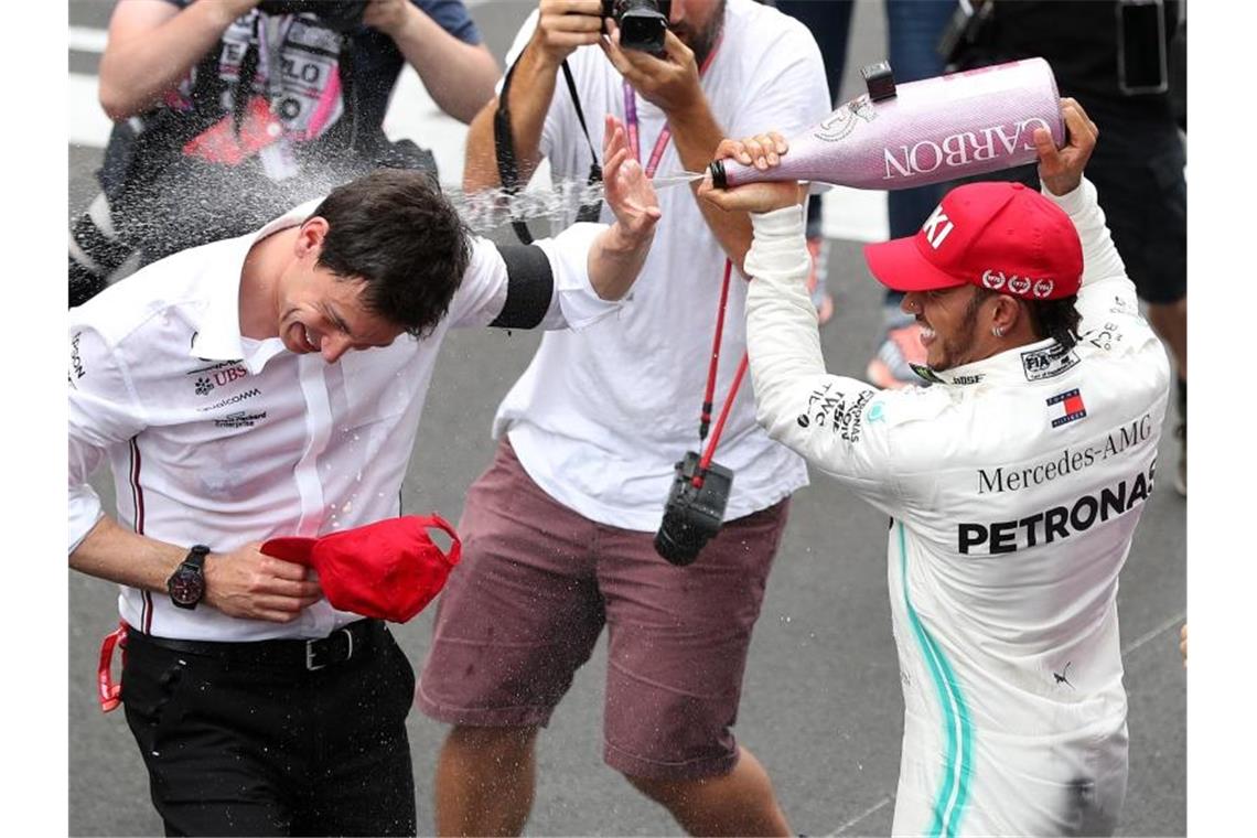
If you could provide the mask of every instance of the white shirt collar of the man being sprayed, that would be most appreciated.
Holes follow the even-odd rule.
[[[220,259],[206,270],[207,305],[200,328],[192,338],[189,354],[205,361],[244,361],[249,372],[256,374],[280,352],[284,343],[279,338],[254,340],[240,334],[240,275],[249,250],[273,232],[287,230],[308,219],[322,199],[307,201],[284,215],[268,221],[260,230],[225,242]]]

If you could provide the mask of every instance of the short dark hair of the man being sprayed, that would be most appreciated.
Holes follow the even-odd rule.
[[[372,172],[332,190],[313,216],[328,224],[317,265],[363,280],[371,313],[431,334],[471,261],[468,227],[431,176]]]

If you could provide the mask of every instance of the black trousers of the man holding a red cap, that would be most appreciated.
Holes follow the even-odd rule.
[[[259,658],[131,631],[122,701],[167,835],[415,834],[415,672],[383,623],[358,627],[349,660],[313,671],[297,641]]]

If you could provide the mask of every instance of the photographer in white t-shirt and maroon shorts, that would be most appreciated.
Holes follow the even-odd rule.
[[[622,40],[617,21],[644,6],[667,16],[659,52]],[[701,171],[739,126],[802,129],[830,111],[816,41],[776,9],[543,0],[515,39],[505,101],[471,123],[468,191],[502,182],[499,104],[522,180],[543,157],[556,178],[585,180],[591,151],[558,80],[564,60],[582,112],[625,119],[651,175]],[[590,128],[597,147],[600,126]],[[537,732],[603,626],[606,763],[693,834],[789,834],[767,773],[732,729],[788,498],[807,471],[755,427],[743,387],[715,451],[734,474],[723,528],[689,568],[656,552],[675,464],[700,440],[725,260],[740,269],[750,244],[745,212],[700,207],[693,190],[661,191],[660,207],[667,221],[631,309],[578,338],[542,340],[499,407],[497,459],[468,494],[464,558],[419,690],[420,709],[454,725],[436,773],[441,834],[523,829]],[[744,299],[733,271],[716,411],[745,349]]]

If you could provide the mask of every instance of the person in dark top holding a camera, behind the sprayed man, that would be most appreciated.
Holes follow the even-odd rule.
[[[407,63],[463,122],[493,98],[498,65],[461,0],[118,3],[99,87],[116,124],[70,227],[70,305],[372,168],[435,176],[382,129]]]

